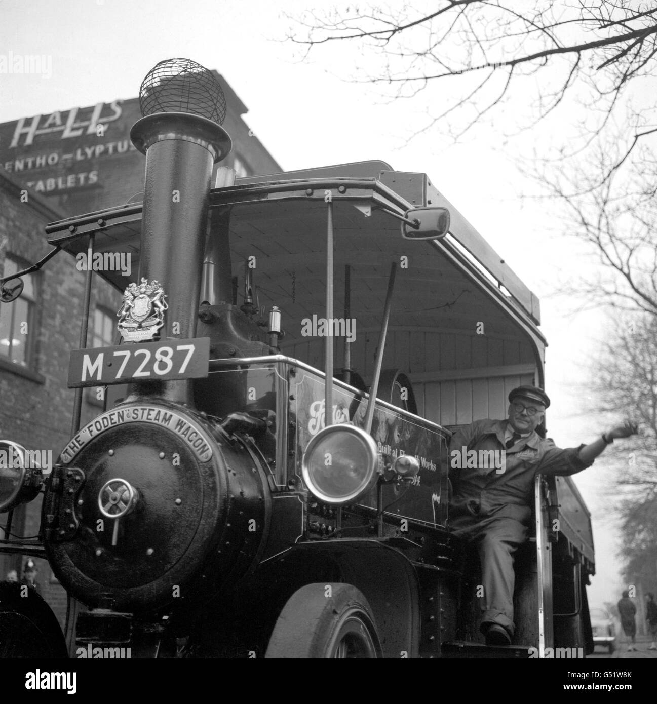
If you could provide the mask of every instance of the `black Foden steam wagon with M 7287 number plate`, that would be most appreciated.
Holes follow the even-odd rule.
[[[5,527],[44,500],[39,539],[0,549],[45,556],[70,608],[62,634],[36,593],[0,584],[0,653],[590,647],[592,532],[568,477],[535,481],[511,646],[484,645],[477,560],[449,532],[451,434],[544,386],[537,298],[423,173],[367,161],[234,180],[211,80],[183,59],[146,76],[143,202],[49,225],[53,251],[26,270],[59,251],[133,263],[130,279],[87,271],[73,431],[51,472],[4,441]],[[123,292],[116,344],[85,348],[99,275]],[[80,426],[89,386],[105,409]]]

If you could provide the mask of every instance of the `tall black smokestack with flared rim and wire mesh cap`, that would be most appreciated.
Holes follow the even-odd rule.
[[[158,281],[167,296],[161,337],[192,338],[213,164],[232,147],[220,126],[226,101],[210,71],[189,59],[173,58],[146,75],[139,106],[144,117],[130,131],[132,144],[146,155],[139,280]],[[154,382],[148,392],[192,402],[189,380]]]

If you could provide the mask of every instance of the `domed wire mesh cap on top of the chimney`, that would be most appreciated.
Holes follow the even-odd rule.
[[[226,99],[216,77],[189,58],[168,58],[156,63],[139,88],[142,115],[192,113],[221,125]]]

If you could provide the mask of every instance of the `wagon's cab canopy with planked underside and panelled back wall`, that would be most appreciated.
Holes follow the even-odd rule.
[[[403,239],[399,218],[421,206],[449,208],[446,237]],[[287,356],[323,368],[330,325],[336,375],[348,348],[349,368],[369,384],[396,263],[383,368],[389,379],[392,370],[408,375],[418,415],[440,425],[503,417],[513,386],[543,384],[537,298],[425,174],[368,161],[251,177],[213,189],[210,209],[207,250],[217,238],[230,243],[230,271],[225,261],[222,267],[232,277],[232,300],[209,302],[241,306],[250,272],[256,315],[266,319],[272,306],[281,311]],[[130,253],[130,277],[101,274],[123,291],[137,280],[141,217],[142,204],[129,204],[56,222],[46,232],[73,255],[87,252],[90,234],[95,252]],[[329,217],[334,294],[327,321]],[[211,289],[206,284],[203,291]],[[394,389],[382,393],[397,402]]]

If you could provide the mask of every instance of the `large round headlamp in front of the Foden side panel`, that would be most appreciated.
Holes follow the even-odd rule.
[[[330,425],[308,443],[301,473],[319,501],[342,506],[358,501],[377,479],[375,441],[353,425]]]

